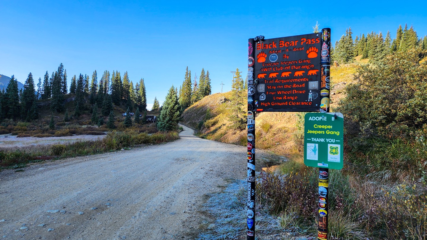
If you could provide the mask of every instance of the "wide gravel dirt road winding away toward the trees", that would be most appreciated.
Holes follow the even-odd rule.
[[[0,239],[196,238],[208,195],[246,178],[246,148],[183,128],[171,143],[0,172]]]

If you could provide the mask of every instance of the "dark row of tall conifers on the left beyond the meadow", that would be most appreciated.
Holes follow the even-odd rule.
[[[119,71],[112,74],[105,70],[98,82],[97,71],[92,73],[91,81],[88,75],[79,74],[71,78],[71,84],[67,88],[67,70],[61,63],[58,70],[52,75],[46,71],[43,81],[38,79],[37,91],[35,90],[32,73],[29,73],[23,90],[18,90],[18,82],[12,76],[6,90],[0,91],[0,120],[5,118],[13,120],[31,121],[38,118],[37,100],[50,100],[52,112],[63,112],[65,95],[74,97],[76,108],[74,116],[79,116],[82,111],[98,109],[102,116],[107,116],[113,110],[114,105],[125,106],[131,110],[135,107],[139,111],[146,111],[146,88],[144,79],[141,78],[134,86],[128,73]],[[70,95],[73,94],[73,95]],[[88,97],[88,101],[87,101]],[[156,100],[155,100],[156,101]],[[158,101],[157,101],[158,105]],[[66,110],[68,118],[68,109]],[[137,114],[139,116],[139,114]]]

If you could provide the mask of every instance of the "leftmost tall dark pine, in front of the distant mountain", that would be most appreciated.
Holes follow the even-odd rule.
[[[9,80],[9,84],[6,88],[5,100],[6,104],[3,108],[4,114],[7,118],[12,118],[13,120],[16,120],[19,117],[20,105],[18,82],[15,79],[15,76],[13,75],[12,78]]]

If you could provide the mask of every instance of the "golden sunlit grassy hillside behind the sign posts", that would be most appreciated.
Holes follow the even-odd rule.
[[[331,67],[332,82],[331,109],[345,96],[344,88],[353,82],[358,64],[366,63],[367,59],[339,67]],[[231,111],[231,92],[217,93],[204,97],[194,103],[182,114],[182,123],[199,130],[202,138],[234,143],[246,146],[247,131],[231,128],[229,116]],[[209,110],[208,110],[209,109]],[[242,105],[242,109],[245,106]],[[208,111],[208,116],[206,116]],[[268,149],[281,155],[290,156],[297,150],[295,142],[298,138],[298,114],[290,112],[260,112],[255,117],[255,139],[257,148]]]

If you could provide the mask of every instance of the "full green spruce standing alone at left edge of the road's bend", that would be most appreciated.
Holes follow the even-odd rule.
[[[181,106],[178,103],[176,89],[172,85],[160,111],[159,120],[157,122],[159,131],[165,132],[175,129],[181,117],[181,113],[179,112],[180,108]]]

